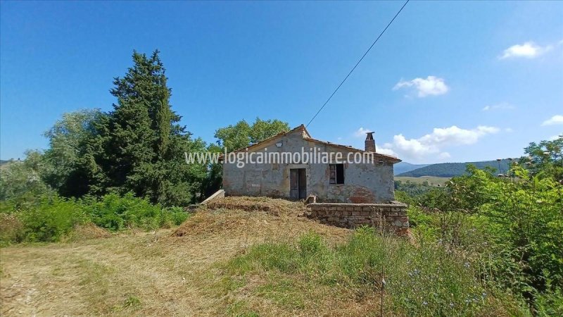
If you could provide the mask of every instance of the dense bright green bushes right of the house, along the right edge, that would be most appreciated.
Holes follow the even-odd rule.
[[[550,160],[531,171],[515,163],[505,177],[469,166],[467,175],[453,178],[441,192],[403,197],[411,204],[415,234],[471,254],[483,268],[480,278],[526,297],[536,313],[557,310],[563,187],[554,166],[562,159]]]

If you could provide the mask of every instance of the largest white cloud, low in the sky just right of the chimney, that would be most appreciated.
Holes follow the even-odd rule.
[[[390,150],[399,158],[410,161],[424,159],[449,159],[450,154],[443,151],[445,147],[475,144],[481,137],[500,132],[500,128],[479,125],[474,129],[462,129],[455,125],[449,128],[434,128],[434,130],[417,139],[407,139],[403,135],[395,135],[393,142],[384,144],[377,151]]]

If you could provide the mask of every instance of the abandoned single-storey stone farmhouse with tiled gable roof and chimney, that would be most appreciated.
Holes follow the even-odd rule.
[[[252,157],[244,164],[235,160]],[[393,164],[400,162],[377,153],[373,132],[367,133],[362,150],[314,139],[304,125],[222,160],[222,188],[229,196],[314,196],[317,202],[348,204],[394,201]]]

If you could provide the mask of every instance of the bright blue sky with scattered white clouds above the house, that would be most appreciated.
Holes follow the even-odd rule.
[[[46,149],[63,113],[113,109],[133,50],[160,50],[182,124],[306,124],[403,5],[0,2],[0,158]],[[517,157],[563,134],[563,2],[410,1],[310,134],[410,163]]]

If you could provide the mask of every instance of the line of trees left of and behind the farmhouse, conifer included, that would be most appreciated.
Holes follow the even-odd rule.
[[[113,80],[111,111],[63,114],[44,133],[48,149],[4,166],[1,200],[48,191],[69,198],[131,192],[153,204],[186,206],[219,189],[222,171],[218,164],[188,165],[184,152],[239,149],[289,130],[280,120],[241,120],[217,129],[217,142],[206,144],[179,124],[159,51],[134,51],[132,62]]]

